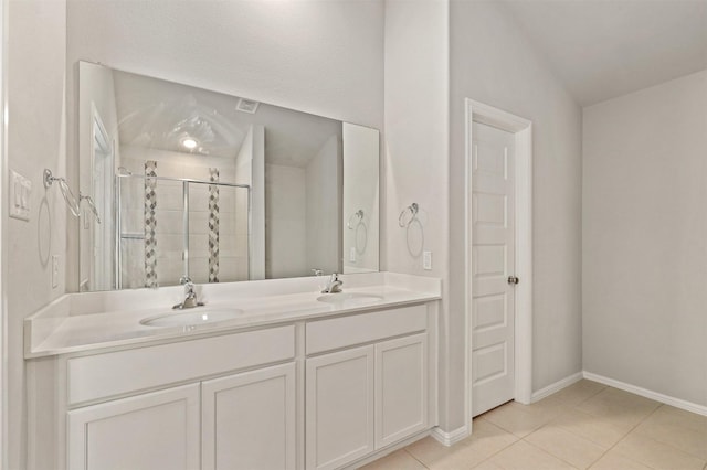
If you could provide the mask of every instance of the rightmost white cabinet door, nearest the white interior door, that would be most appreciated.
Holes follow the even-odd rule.
[[[376,344],[376,448],[428,426],[428,335]]]

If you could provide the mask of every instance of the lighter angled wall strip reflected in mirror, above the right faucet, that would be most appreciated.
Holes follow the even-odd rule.
[[[331,136],[321,146],[305,169],[305,238],[307,266],[300,276],[312,269],[338,273],[341,254],[341,146],[338,136]]]

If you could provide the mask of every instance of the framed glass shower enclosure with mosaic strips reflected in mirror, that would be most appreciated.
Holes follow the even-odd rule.
[[[115,287],[247,280],[251,188],[208,179],[119,171],[115,178]],[[205,174],[204,174],[205,175]]]

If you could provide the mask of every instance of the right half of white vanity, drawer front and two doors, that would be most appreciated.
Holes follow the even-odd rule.
[[[340,468],[428,428],[428,335],[425,306],[307,324],[307,469]]]

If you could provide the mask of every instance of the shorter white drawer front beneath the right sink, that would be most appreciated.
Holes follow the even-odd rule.
[[[307,354],[424,331],[428,307],[412,306],[307,323]]]

